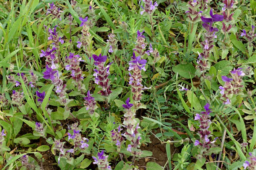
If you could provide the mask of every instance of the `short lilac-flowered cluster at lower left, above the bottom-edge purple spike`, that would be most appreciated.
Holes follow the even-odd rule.
[[[75,127],[75,126],[72,126],[72,127]],[[87,144],[89,140],[81,137],[80,130],[78,129],[78,127],[73,128],[73,135],[71,135],[70,133],[67,133],[67,135],[68,135],[68,141],[70,139],[73,139],[73,145],[74,145],[75,151],[80,150],[81,152],[83,152],[83,150],[85,150],[89,146],[89,144]]]

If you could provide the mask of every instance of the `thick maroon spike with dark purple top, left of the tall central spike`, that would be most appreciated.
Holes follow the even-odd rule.
[[[113,62],[110,62],[108,65],[105,66],[105,62],[107,60],[107,56],[99,56],[93,54],[94,65],[96,65],[97,69],[94,69],[95,73],[93,76],[95,77],[95,83],[102,87],[100,91],[102,96],[108,96],[112,93],[110,90],[110,81],[108,76],[110,75],[109,68]]]

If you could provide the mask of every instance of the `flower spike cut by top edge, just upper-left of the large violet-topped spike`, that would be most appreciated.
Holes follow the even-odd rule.
[[[191,23],[197,23],[200,21],[200,15],[203,11],[198,11],[200,6],[199,1],[189,0],[187,6],[189,7],[189,10],[185,12],[188,16],[187,20]]]

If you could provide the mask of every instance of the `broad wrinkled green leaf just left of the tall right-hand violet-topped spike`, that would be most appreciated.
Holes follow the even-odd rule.
[[[174,66],[172,68],[172,70],[175,72],[175,73],[178,73],[180,74],[180,76],[186,78],[186,79],[190,79],[190,76],[191,78],[194,78],[195,77],[195,67],[191,64],[191,63],[188,63],[188,64],[178,64],[176,66]]]

